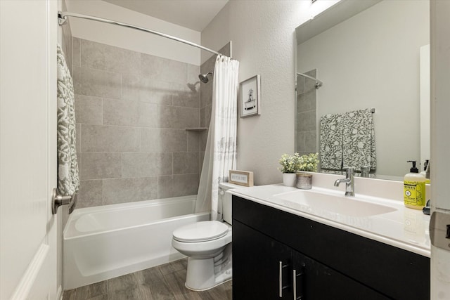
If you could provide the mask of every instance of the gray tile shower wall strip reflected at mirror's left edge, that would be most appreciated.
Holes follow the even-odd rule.
[[[316,78],[316,70],[305,74]],[[297,77],[297,117],[295,152],[300,155],[317,152],[316,82],[302,76]]]

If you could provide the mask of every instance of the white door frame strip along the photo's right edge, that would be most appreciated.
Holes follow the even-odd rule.
[[[432,0],[431,8],[431,188],[432,214],[450,226],[450,1]],[[450,299],[450,239],[446,249],[431,247],[431,299]],[[436,243],[435,243],[436,244]]]

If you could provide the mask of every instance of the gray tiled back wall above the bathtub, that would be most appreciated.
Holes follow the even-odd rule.
[[[200,67],[72,39],[77,207],[197,193]]]

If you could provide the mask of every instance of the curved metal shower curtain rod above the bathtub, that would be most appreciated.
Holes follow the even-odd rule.
[[[200,46],[200,45],[195,44],[195,43],[193,43],[191,41],[186,41],[185,39],[179,39],[178,37],[172,37],[172,35],[169,35],[169,34],[165,34],[165,33],[162,33],[162,32],[157,32],[157,31],[154,31],[154,30],[148,30],[148,29],[146,29],[144,27],[139,27],[139,26],[127,24],[127,23],[124,23],[124,22],[118,22],[118,21],[115,21],[115,20],[108,20],[108,19],[103,19],[103,18],[97,18],[97,17],[94,17],[92,15],[82,15],[80,13],[69,13],[68,11],[58,11],[58,24],[59,25],[63,25],[65,23],[65,21],[67,21],[68,17],[75,17],[75,18],[81,18],[81,19],[86,19],[86,20],[94,20],[94,21],[97,21],[97,22],[104,22],[104,23],[108,23],[108,24],[114,24],[114,25],[120,25],[120,26],[123,26],[123,27],[132,28],[132,29],[135,29],[135,30],[141,30],[143,32],[149,32],[151,34],[159,35],[160,37],[166,37],[167,39],[173,39],[174,41],[179,41],[181,43],[188,44],[190,46],[194,46],[194,47],[200,48],[200,49],[208,51],[210,53],[214,53],[214,54],[217,54],[217,55],[222,55],[221,53],[219,53],[217,51],[211,50],[210,48],[206,48],[204,46]]]

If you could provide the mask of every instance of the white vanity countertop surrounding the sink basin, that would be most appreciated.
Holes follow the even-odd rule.
[[[316,176],[316,174],[314,176]],[[325,177],[326,181],[329,182],[334,181],[335,178],[342,178],[342,176]],[[323,181],[323,178],[320,178],[318,182],[319,181]],[[366,183],[377,186],[377,189],[380,188],[380,185],[383,185],[383,182],[373,184],[373,182],[366,181]],[[388,183],[387,185],[389,184],[392,185],[392,183]],[[401,187],[402,184],[403,183],[401,182],[397,183],[397,185],[401,185]],[[363,181],[360,181],[359,185],[361,186],[361,190],[367,190],[362,186],[364,185]],[[397,195],[397,192],[399,191],[399,187],[397,185],[395,185],[392,189],[396,192],[395,195]],[[387,189],[389,190],[389,188]],[[358,192],[356,188],[355,190]],[[356,198],[359,200],[392,207],[395,210],[374,216],[352,216],[327,211],[323,208],[313,209],[307,205],[283,200],[280,197],[277,197],[277,195],[281,193],[293,191],[302,190],[276,184],[254,186],[251,188],[238,188],[236,190],[229,190],[229,193],[269,207],[287,211],[291,214],[296,214],[297,216],[302,216],[328,226],[333,226],[335,228],[348,231],[349,233],[361,235],[371,240],[377,240],[378,242],[390,244],[394,247],[430,257],[430,234],[428,231],[430,216],[423,214],[422,210],[404,207],[403,202],[401,199],[398,199],[397,196],[389,199],[385,197],[374,197],[373,195],[360,195],[356,193]],[[328,189],[314,186],[310,191],[338,196],[344,195],[342,188]],[[383,193],[386,193],[386,188]],[[401,197],[401,195],[402,194],[399,196]]]

